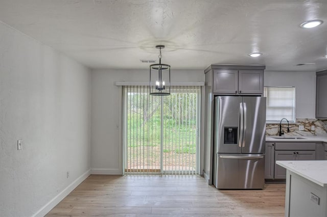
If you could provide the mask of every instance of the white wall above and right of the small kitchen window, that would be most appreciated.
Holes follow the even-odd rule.
[[[295,87],[295,118],[315,118],[316,72],[265,71],[265,86]]]

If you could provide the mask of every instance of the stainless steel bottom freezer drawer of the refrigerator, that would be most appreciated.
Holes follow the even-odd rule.
[[[264,154],[217,154],[216,187],[219,189],[263,189]]]

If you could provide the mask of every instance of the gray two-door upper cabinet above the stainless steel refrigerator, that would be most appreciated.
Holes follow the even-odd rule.
[[[262,95],[265,66],[211,65],[213,93],[222,95]]]

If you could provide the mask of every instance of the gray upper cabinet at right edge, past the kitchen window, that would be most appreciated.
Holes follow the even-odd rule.
[[[327,118],[327,70],[316,72],[316,118]]]

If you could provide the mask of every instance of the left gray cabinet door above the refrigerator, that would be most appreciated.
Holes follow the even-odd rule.
[[[238,93],[238,70],[217,69],[214,70],[214,93]]]

